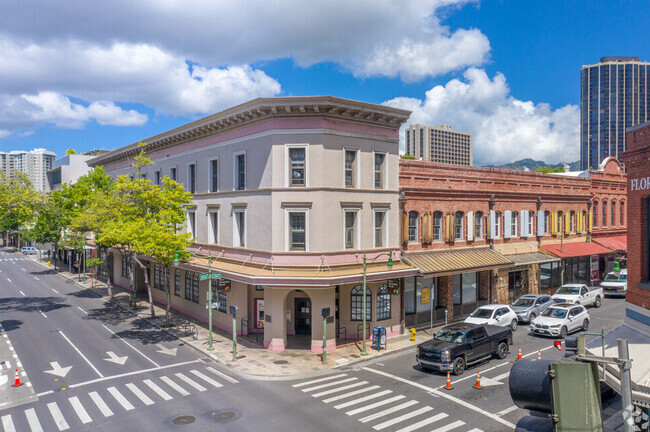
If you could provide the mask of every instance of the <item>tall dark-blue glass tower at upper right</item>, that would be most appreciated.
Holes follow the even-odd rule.
[[[638,57],[602,57],[582,66],[580,168],[597,169],[607,157],[620,160],[625,130],[650,120],[650,63]]]

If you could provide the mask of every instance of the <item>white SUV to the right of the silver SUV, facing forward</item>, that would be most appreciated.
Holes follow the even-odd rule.
[[[576,330],[587,331],[589,321],[589,312],[584,306],[561,303],[549,307],[535,318],[530,323],[530,330],[534,334],[564,338]]]

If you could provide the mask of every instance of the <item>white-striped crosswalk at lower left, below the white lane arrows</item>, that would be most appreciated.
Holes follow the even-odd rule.
[[[188,376],[188,375],[191,375]],[[188,396],[192,392],[221,389],[224,385],[238,381],[214,368],[190,370],[189,374],[176,373],[148,378],[142,381],[112,385],[102,390],[77,394],[45,406],[33,406],[23,413],[15,408],[12,414],[1,415],[3,432],[44,430],[66,431],[93,420],[105,419],[121,411],[132,411],[139,407]],[[223,381],[223,382],[222,382]]]

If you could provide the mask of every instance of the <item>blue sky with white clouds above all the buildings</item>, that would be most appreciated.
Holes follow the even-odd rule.
[[[580,66],[650,61],[647,1],[0,5],[0,151],[114,149],[256,97],[330,94],[474,134],[477,165],[579,157]]]

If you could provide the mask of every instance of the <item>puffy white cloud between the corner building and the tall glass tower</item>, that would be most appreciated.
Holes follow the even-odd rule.
[[[576,105],[553,109],[510,95],[506,78],[490,79],[484,70],[465,71],[426,93],[424,100],[396,98],[386,105],[411,110],[409,124],[451,124],[471,132],[474,164],[500,164],[524,158],[549,163],[580,158],[580,110]]]

